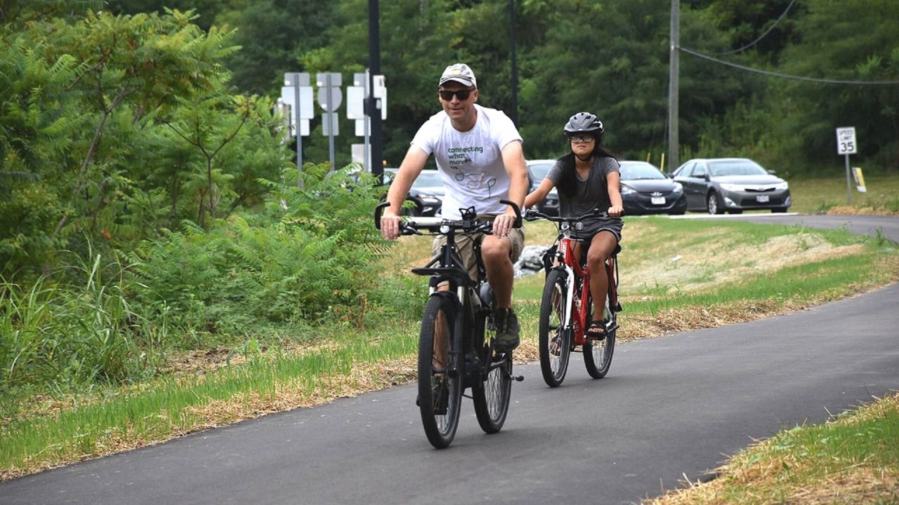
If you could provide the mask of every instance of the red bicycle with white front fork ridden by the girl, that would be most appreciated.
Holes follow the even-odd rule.
[[[605,322],[606,335],[594,340],[586,334],[587,327],[593,320],[586,248],[583,248],[582,258],[575,258],[576,239],[571,236],[572,227],[577,226],[578,222],[607,216],[598,209],[579,217],[548,216],[534,210],[525,214],[529,221],[547,219],[557,223],[559,228],[556,243],[543,256],[547,279],[540,302],[540,370],[543,372],[543,380],[550,387],[562,385],[571,352],[576,352],[578,348],[583,351],[583,364],[591,377],[602,378],[609,372],[612,352],[615,350],[615,333],[619,328],[618,313],[621,311],[618,298],[618,253],[621,248],[616,246],[605,263],[609,292],[602,321]]]

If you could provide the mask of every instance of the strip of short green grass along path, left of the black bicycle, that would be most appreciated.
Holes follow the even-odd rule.
[[[303,355],[275,353],[200,377],[163,377],[58,416],[13,420],[0,431],[0,468],[22,469],[34,465],[35,458],[42,465],[57,465],[98,454],[126,438],[168,439],[203,426],[203,407],[210,403],[266,397],[274,402],[287,389],[311,397],[335,378],[345,380],[354,368],[413,354],[418,343],[413,327],[396,321],[357,332],[335,325],[327,329],[333,336],[326,349]]]

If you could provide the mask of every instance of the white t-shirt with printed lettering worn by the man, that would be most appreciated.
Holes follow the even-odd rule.
[[[475,127],[458,131],[446,112],[425,121],[412,145],[434,155],[447,192],[443,197],[444,217],[461,218],[459,208],[474,207],[478,214],[502,214],[509,199],[509,176],[503,165],[503,147],[521,135],[512,120],[496,109],[474,104]]]

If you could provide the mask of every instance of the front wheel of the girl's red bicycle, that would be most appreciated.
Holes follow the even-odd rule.
[[[562,385],[571,357],[571,332],[564,327],[568,296],[565,277],[561,270],[550,270],[540,302],[540,371],[549,387]]]

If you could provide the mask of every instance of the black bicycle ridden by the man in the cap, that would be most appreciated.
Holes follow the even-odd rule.
[[[515,209],[515,227],[521,227],[521,212]],[[375,226],[380,229],[382,209],[375,208]],[[424,308],[418,337],[418,406],[424,433],[434,447],[448,447],[456,435],[462,396],[471,388],[478,424],[486,433],[503,429],[509,412],[512,380],[512,351],[497,350],[494,338],[494,291],[486,282],[479,237],[474,243],[477,280],[473,281],[458,256],[456,235],[491,234],[493,223],[478,220],[474,208],[462,210],[459,220],[410,218],[400,226],[400,235],[444,235],[441,253],[418,275],[430,276],[430,297]]]

